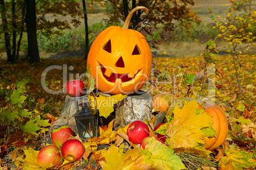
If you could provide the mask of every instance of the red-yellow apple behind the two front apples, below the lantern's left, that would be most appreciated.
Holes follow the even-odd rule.
[[[51,134],[52,142],[60,148],[63,143],[69,139],[70,135],[74,136],[72,129],[68,126],[61,126],[58,129],[53,129]]]

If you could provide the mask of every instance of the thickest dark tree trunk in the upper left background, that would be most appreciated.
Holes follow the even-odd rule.
[[[27,44],[29,63],[39,62],[38,39],[36,36],[36,1],[26,0]]]

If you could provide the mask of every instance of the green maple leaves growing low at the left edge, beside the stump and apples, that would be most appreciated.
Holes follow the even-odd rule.
[[[23,107],[27,99],[26,84],[29,79],[22,81],[17,80],[16,84],[11,87],[5,96],[6,106],[0,108],[0,121],[3,127],[14,127],[15,129],[22,129],[24,133],[36,134],[41,127],[50,126],[48,120],[41,119],[41,115]],[[7,128],[9,129],[9,128]],[[43,131],[46,129],[43,128]],[[5,133],[10,133],[6,131]]]

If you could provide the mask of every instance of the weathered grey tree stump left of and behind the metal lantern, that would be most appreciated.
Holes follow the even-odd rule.
[[[88,101],[87,96],[80,96],[76,97],[76,101],[79,103],[83,103]],[[82,109],[82,107],[78,106],[78,109]],[[78,130],[76,128],[76,121],[75,117],[73,115],[76,114],[76,104],[75,104],[75,97],[72,96],[66,96],[64,107],[62,108],[62,111],[60,113],[60,116],[58,119],[52,124],[50,130],[45,135],[45,141],[46,143],[52,143],[51,134],[53,129],[60,128],[60,126],[69,126],[69,128],[72,129],[73,133],[76,135],[78,134]]]

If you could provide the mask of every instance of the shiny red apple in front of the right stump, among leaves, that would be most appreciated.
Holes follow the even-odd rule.
[[[149,136],[149,129],[145,122],[134,121],[127,129],[129,140],[134,144],[139,144],[141,141]]]

